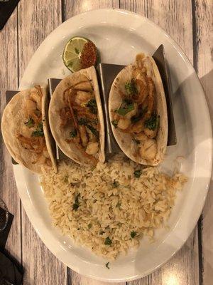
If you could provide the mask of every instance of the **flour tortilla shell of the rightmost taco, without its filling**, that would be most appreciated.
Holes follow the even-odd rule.
[[[143,57],[143,53],[141,54]],[[114,110],[118,109],[122,103],[122,98],[119,93],[119,90],[125,91],[124,86],[126,81],[131,81],[133,75],[133,68],[136,67],[137,63],[132,63],[129,66],[126,66],[118,76],[114,79],[112,83],[111,90],[109,93],[109,118],[110,122],[114,120]],[[136,154],[138,150],[138,145],[132,140],[131,134],[124,133],[119,128],[114,128],[114,125],[111,123],[111,128],[118,142],[119,147],[128,156],[131,160],[138,162],[142,165],[158,165],[163,161],[167,140],[168,140],[168,114],[167,106],[165,100],[165,93],[163,89],[163,83],[160,78],[160,73],[158,67],[156,66],[155,61],[151,56],[146,56],[146,69],[148,76],[150,76],[155,84],[155,100],[156,100],[156,110],[158,115],[160,115],[158,133],[156,135],[157,142],[157,155],[153,160],[144,160],[139,155]]]

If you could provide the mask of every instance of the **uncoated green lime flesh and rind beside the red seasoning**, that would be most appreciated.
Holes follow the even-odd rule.
[[[75,72],[81,69],[81,53],[84,48],[84,44],[88,41],[89,40],[87,38],[75,36],[73,38],[70,38],[70,40],[67,42],[62,58],[65,63],[65,66],[67,66],[70,71]]]

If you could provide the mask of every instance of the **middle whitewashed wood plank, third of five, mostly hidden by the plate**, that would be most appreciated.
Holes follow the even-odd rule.
[[[84,11],[89,11],[92,9],[100,9],[100,8],[119,8],[119,0],[92,0],[92,1],[87,1],[87,0],[77,0],[77,1],[70,1],[70,0],[65,0],[64,1],[64,9],[63,9],[63,16],[64,20],[69,19],[72,16],[75,16],[77,14],[80,14]],[[104,285],[106,283],[97,281],[94,279],[89,279],[85,276],[82,276],[81,274],[77,274],[75,271],[71,271],[68,269],[69,274],[68,274],[68,284],[72,285]],[[112,283],[113,284],[113,283]],[[126,284],[124,283],[119,283],[121,285]]]

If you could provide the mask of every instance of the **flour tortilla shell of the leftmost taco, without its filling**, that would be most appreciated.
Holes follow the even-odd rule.
[[[11,156],[18,164],[25,166],[29,170],[35,173],[41,173],[42,165],[38,163],[33,164],[31,161],[36,158],[36,155],[29,150],[22,147],[21,142],[19,142],[16,135],[20,132],[23,126],[23,120],[25,120],[25,104],[26,100],[30,97],[32,91],[36,91],[35,88],[29,88],[18,92],[10,102],[6,105],[4,113],[1,120],[1,132],[7,149],[9,150]],[[50,141],[50,134],[48,133],[48,121],[46,120],[45,113],[48,109],[48,93],[46,88],[42,88],[42,101],[41,101],[41,114],[43,120],[43,131],[45,136],[45,142],[50,155],[50,160],[52,161],[53,168],[57,172],[58,167],[55,162],[53,155],[53,147]]]

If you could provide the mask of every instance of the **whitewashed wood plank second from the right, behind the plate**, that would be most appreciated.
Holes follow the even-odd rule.
[[[138,1],[121,0],[120,8],[148,17],[167,31],[193,61],[191,1]],[[199,284],[197,229],[185,245],[161,269],[131,285]]]

